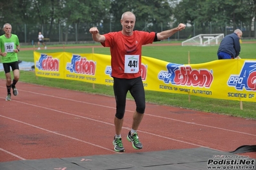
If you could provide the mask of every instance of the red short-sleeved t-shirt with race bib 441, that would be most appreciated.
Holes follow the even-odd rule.
[[[112,77],[133,79],[141,76],[142,45],[153,43],[155,32],[133,31],[132,36],[124,36],[121,31],[107,33],[101,43],[110,47]]]

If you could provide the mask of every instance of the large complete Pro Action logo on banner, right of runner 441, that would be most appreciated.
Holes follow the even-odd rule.
[[[169,63],[167,72],[158,73],[158,79],[166,84],[175,84],[182,86],[204,87],[210,88],[213,81],[212,71],[207,69],[192,69],[191,66],[183,66]]]

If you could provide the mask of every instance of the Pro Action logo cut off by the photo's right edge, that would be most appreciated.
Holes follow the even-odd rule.
[[[244,88],[247,91],[256,91],[256,62],[244,61],[240,74],[230,75],[228,86],[235,87],[237,90]]]

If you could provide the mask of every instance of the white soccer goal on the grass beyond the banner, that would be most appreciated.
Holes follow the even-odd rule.
[[[218,45],[224,38],[224,34],[201,34],[182,42],[182,46],[208,46]]]

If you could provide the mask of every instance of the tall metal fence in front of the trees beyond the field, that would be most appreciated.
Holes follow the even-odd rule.
[[[1,24],[1,23],[0,23]],[[3,23],[2,23],[3,26]],[[16,34],[19,37],[21,43],[32,44],[37,42],[38,32],[42,32],[44,38],[47,38],[46,41],[51,43],[85,43],[92,42],[92,36],[89,33],[89,29],[92,26],[97,26],[100,33],[108,33],[111,31],[119,31],[122,29],[120,23],[103,23],[103,24],[12,24],[12,33]],[[177,26],[177,24],[176,24]],[[171,29],[176,27],[175,25],[170,26],[169,23],[146,23],[146,22],[136,22],[135,30],[143,30],[143,31],[155,31],[160,32],[166,29]],[[243,38],[255,39],[256,31],[255,31],[255,23],[250,27],[244,26],[243,23],[239,24],[237,28],[243,31]],[[221,34],[224,33],[228,35],[233,33],[232,26],[219,26],[218,23],[200,23],[194,24],[194,26],[187,26],[186,29],[176,33],[171,36],[171,39],[175,40],[187,40],[192,36],[196,36],[199,34]],[[1,33],[4,33],[1,30]]]

